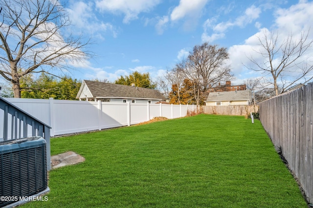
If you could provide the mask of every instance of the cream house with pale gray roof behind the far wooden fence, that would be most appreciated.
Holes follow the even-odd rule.
[[[248,105],[251,103],[251,90],[210,92],[206,105]]]

